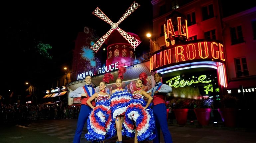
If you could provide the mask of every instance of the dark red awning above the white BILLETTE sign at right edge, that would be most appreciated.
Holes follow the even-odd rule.
[[[256,80],[255,79],[246,79],[246,80],[239,80],[239,81],[230,81],[228,83],[227,89],[238,89],[240,86],[245,87],[256,87]]]

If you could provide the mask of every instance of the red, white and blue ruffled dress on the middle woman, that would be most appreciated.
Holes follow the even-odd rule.
[[[112,112],[113,121],[116,120],[116,117],[124,116],[126,107],[129,105],[129,101],[132,99],[132,94],[127,90],[115,91],[110,98],[110,107]]]

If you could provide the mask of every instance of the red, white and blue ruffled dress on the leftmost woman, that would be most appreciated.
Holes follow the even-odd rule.
[[[100,95],[98,93],[96,106],[87,119],[88,132],[85,134],[87,140],[103,141],[104,139],[110,139],[115,135],[109,105],[109,96]]]

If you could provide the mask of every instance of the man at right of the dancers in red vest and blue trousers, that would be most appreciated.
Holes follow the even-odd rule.
[[[166,118],[163,118],[167,116],[165,106],[166,95],[172,91],[172,88],[161,82],[161,73],[155,73],[154,80],[156,82],[155,87],[147,91],[147,93],[153,96],[153,113],[156,120],[154,129],[156,138],[153,140],[153,143],[160,143],[160,128],[162,129],[165,143],[172,143],[173,140],[171,133],[168,130],[167,120]]]

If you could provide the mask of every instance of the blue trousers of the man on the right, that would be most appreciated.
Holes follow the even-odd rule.
[[[160,143],[160,128],[162,129],[165,143],[173,143],[173,139],[167,125],[167,111],[165,104],[161,103],[153,105],[153,113],[156,121],[154,129],[156,138],[153,140],[153,143]]]

